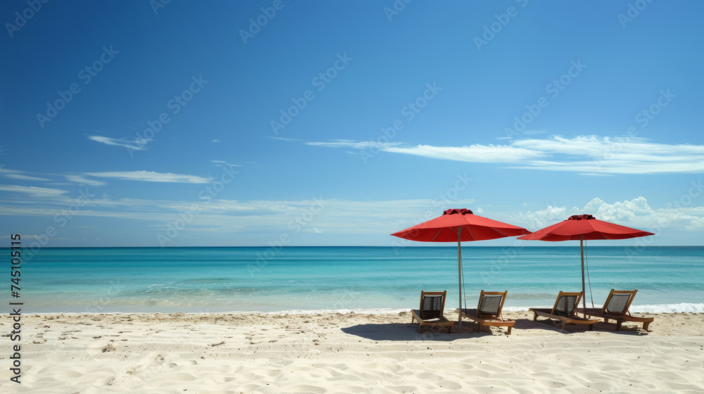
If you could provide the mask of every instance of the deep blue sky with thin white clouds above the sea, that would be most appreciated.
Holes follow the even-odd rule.
[[[701,2],[39,4],[0,4],[5,239],[389,246],[470,208],[703,244]]]

